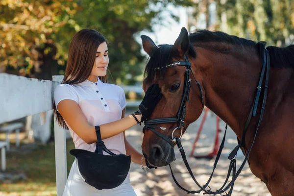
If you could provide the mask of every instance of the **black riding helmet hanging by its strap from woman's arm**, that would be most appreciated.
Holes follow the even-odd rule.
[[[125,180],[131,157],[108,150],[101,140],[100,127],[95,128],[98,140],[95,152],[72,149],[70,153],[77,159],[77,169],[87,184],[99,190],[113,189]],[[110,155],[103,155],[103,150]]]

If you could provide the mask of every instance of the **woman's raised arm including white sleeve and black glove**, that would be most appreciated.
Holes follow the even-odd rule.
[[[61,95],[66,96],[67,98],[61,98]],[[161,98],[162,94],[160,93],[158,84],[150,85],[141,104],[138,107],[138,110],[133,113],[138,122],[145,121],[151,115],[152,111]],[[56,101],[55,103],[57,103],[57,111],[73,129],[73,131],[87,144],[97,142],[95,126],[91,126],[88,123],[84,113],[78,106],[75,99],[76,98],[74,98],[74,95],[71,91],[62,89],[62,87],[54,93],[54,100]],[[137,124],[137,121],[132,115],[112,123],[101,124],[99,125],[101,138],[103,140],[115,136],[135,124]]]

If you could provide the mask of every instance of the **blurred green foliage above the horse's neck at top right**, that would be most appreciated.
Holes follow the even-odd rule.
[[[219,18],[226,15],[228,33],[285,46],[294,40],[293,0],[216,0]],[[220,21],[223,23],[223,21]],[[291,35],[292,34],[292,35]]]

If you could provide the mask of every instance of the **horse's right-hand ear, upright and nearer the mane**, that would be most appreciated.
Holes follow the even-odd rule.
[[[183,27],[181,29],[180,35],[175,40],[172,49],[174,51],[177,51],[180,56],[184,56],[189,49],[189,44],[190,44],[190,41],[189,41],[188,31],[185,27]]]

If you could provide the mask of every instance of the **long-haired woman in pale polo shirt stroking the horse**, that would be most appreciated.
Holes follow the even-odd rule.
[[[124,131],[146,120],[162,94],[158,85],[150,86],[152,89],[147,91],[141,109],[124,117],[126,101],[123,89],[106,83],[108,63],[107,43],[100,33],[83,29],[74,35],[63,82],[54,92],[57,120],[70,130],[75,148],[94,152],[97,142],[95,126],[99,125],[101,138],[109,150],[131,155],[132,162],[146,166],[144,156],[127,142]],[[63,196],[136,195],[129,174],[120,186],[98,190],[83,181],[75,162],[76,159]]]

